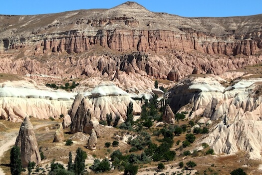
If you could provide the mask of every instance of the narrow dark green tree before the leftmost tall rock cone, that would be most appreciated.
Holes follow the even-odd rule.
[[[13,146],[10,152],[10,169],[12,175],[20,175],[22,170],[22,161],[19,146]]]

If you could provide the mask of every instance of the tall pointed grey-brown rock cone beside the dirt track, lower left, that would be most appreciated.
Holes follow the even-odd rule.
[[[19,146],[21,150],[22,167],[27,167],[29,161],[34,161],[36,165],[39,164],[40,152],[29,117],[24,118],[15,145]]]

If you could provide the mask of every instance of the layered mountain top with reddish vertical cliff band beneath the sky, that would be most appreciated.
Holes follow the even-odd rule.
[[[95,44],[121,52],[180,49],[226,55],[252,55],[262,48],[261,15],[186,18],[126,2],[111,9],[2,15],[0,20],[0,50],[26,54],[80,53]]]

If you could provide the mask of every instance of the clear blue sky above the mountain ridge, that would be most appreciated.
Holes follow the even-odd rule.
[[[43,14],[111,8],[128,0],[1,0],[0,14]],[[262,13],[262,0],[130,0],[150,11],[186,17],[224,17]]]

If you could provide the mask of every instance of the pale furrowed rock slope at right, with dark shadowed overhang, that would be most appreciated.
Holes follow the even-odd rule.
[[[170,106],[177,111],[191,111],[190,117],[203,116],[220,122],[199,140],[207,142],[215,153],[247,151],[249,157],[261,157],[262,78],[239,79],[228,87],[226,80],[210,77],[188,77],[169,91]],[[183,88],[184,90],[178,90]],[[183,100],[182,106],[179,102]]]

